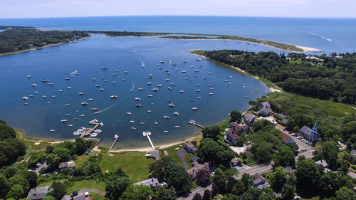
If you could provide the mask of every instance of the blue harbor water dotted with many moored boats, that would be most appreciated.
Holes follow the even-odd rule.
[[[147,139],[142,137],[142,132],[147,130],[152,131],[155,144],[180,141],[199,132],[197,127],[188,124],[189,120],[196,120],[204,126],[213,125],[225,120],[227,113],[233,109],[241,112],[248,109],[248,101],[268,92],[266,85],[256,79],[208,60],[197,61],[197,56],[188,53],[197,48],[218,47],[249,51],[273,50],[266,46],[235,41],[183,41],[95,35],[78,43],[2,56],[0,118],[11,126],[25,130],[29,137],[73,138],[72,132],[80,127],[88,127],[89,120],[97,118],[104,123],[100,127],[103,132],[99,135],[104,139],[104,144],[110,144],[115,134],[120,135],[117,148],[148,146]],[[167,59],[171,61],[159,63],[160,60]],[[187,60],[187,63],[183,63],[183,60]],[[173,66],[173,61],[177,65]],[[108,70],[101,69],[103,66],[108,67]],[[115,72],[115,69],[119,71]],[[70,75],[74,70],[78,70],[79,75]],[[124,73],[125,70],[128,73]],[[168,75],[165,70],[169,70],[171,74]],[[187,73],[182,73],[182,70],[187,70]],[[153,78],[147,79],[146,76],[150,74]],[[27,75],[32,78],[26,78]],[[229,78],[231,75],[233,78]],[[70,80],[65,80],[66,77]],[[167,78],[170,81],[166,81]],[[41,83],[42,79],[49,79],[48,83],[54,85]],[[224,82],[225,80],[228,82]],[[116,84],[112,81],[116,81]],[[149,81],[152,85],[146,84]],[[32,87],[32,83],[37,86]],[[242,85],[243,83],[246,85]],[[158,92],[152,91],[158,84],[162,84],[162,88]],[[100,91],[95,85],[100,85],[105,91]],[[72,89],[68,90],[67,87]],[[137,90],[141,87],[145,90]],[[172,87],[172,90],[167,87]],[[59,92],[60,89],[63,92]],[[197,89],[201,92],[196,92]],[[179,93],[180,90],[185,93]],[[78,95],[82,92],[85,94]],[[34,96],[29,97],[30,94]],[[47,98],[42,98],[43,95]],[[51,98],[52,95],[56,95],[56,98]],[[117,95],[118,98],[112,100],[110,95]],[[23,96],[28,97],[29,105],[23,105]],[[142,100],[135,101],[137,97]],[[88,98],[93,98],[93,102],[88,101]],[[175,107],[169,107],[167,99]],[[83,101],[89,105],[80,105]],[[70,106],[67,107],[67,103]],[[137,103],[142,104],[142,107],[135,107]],[[100,113],[94,115],[92,107],[97,107]],[[192,107],[198,107],[199,110],[192,111]],[[147,110],[152,112],[147,113]],[[180,113],[179,116],[173,115],[176,111]],[[126,112],[132,112],[132,115],[126,115]],[[168,115],[170,119],[164,119],[164,115]],[[74,120],[75,117],[79,120]],[[68,122],[62,123],[63,119]],[[135,123],[130,123],[130,120]],[[145,125],[140,125],[140,122],[145,122]],[[154,122],[159,122],[159,125]],[[73,127],[68,127],[68,124]],[[176,129],[174,126],[181,128]],[[136,130],[131,130],[131,127]],[[56,132],[50,132],[51,129]],[[169,133],[164,133],[164,130]]]

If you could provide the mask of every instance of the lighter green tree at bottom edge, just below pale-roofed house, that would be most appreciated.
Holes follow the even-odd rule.
[[[129,186],[120,199],[122,200],[148,200],[149,196],[153,194],[152,189],[149,186],[145,185],[131,185]]]

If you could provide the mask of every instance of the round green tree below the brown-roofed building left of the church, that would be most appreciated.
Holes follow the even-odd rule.
[[[276,166],[289,165],[290,167],[295,166],[295,155],[292,149],[287,147],[286,145],[281,145],[278,148],[278,152],[273,154],[273,160]]]

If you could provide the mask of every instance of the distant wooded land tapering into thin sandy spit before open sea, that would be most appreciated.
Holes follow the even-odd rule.
[[[133,31],[58,31],[34,28],[28,26],[0,26],[0,56],[23,51],[36,50],[47,46],[59,45],[88,38],[90,33],[105,34],[105,36],[156,36],[166,39],[222,39],[260,43],[284,51],[305,52],[322,51],[316,48],[294,46],[274,41],[265,41],[255,38],[244,38],[240,36],[197,34],[197,33],[155,33],[155,32],[133,32]]]

